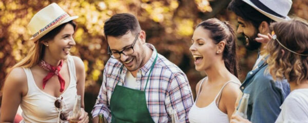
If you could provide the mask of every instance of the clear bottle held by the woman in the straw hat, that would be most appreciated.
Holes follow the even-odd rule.
[[[81,96],[76,95],[73,112],[70,115],[70,120],[69,120],[70,123],[75,123],[79,121],[80,107],[81,107]]]

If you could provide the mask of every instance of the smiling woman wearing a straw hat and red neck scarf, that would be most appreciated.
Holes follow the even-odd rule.
[[[76,18],[55,3],[32,17],[28,28],[33,34],[30,41],[35,45],[6,77],[0,122],[13,122],[18,105],[23,110],[23,122],[69,120],[75,95],[81,95],[84,107],[84,64],[69,54],[76,45],[76,24],[72,21]],[[83,109],[79,119],[88,122]]]

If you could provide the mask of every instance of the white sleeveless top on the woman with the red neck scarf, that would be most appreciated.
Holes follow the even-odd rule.
[[[67,65],[70,76],[69,86],[60,97],[63,97],[63,110],[69,112],[73,109],[77,94],[75,64],[70,55],[67,58]],[[60,97],[54,97],[42,91],[36,86],[31,70],[29,68],[24,70],[27,75],[28,93],[22,97],[20,105],[23,109],[22,122],[58,122],[59,109],[54,106],[54,101]],[[60,118],[59,121],[61,122]]]

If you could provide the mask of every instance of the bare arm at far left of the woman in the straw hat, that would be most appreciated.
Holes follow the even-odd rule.
[[[22,68],[14,68],[7,76],[2,97],[0,122],[14,122],[14,118],[28,91],[27,76]]]

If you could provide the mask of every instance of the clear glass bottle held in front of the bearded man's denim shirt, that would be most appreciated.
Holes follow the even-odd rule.
[[[238,110],[235,112],[235,114],[240,115],[241,117],[245,119],[247,119],[248,99],[249,99],[249,94],[244,93],[242,100],[241,100],[241,104]]]

